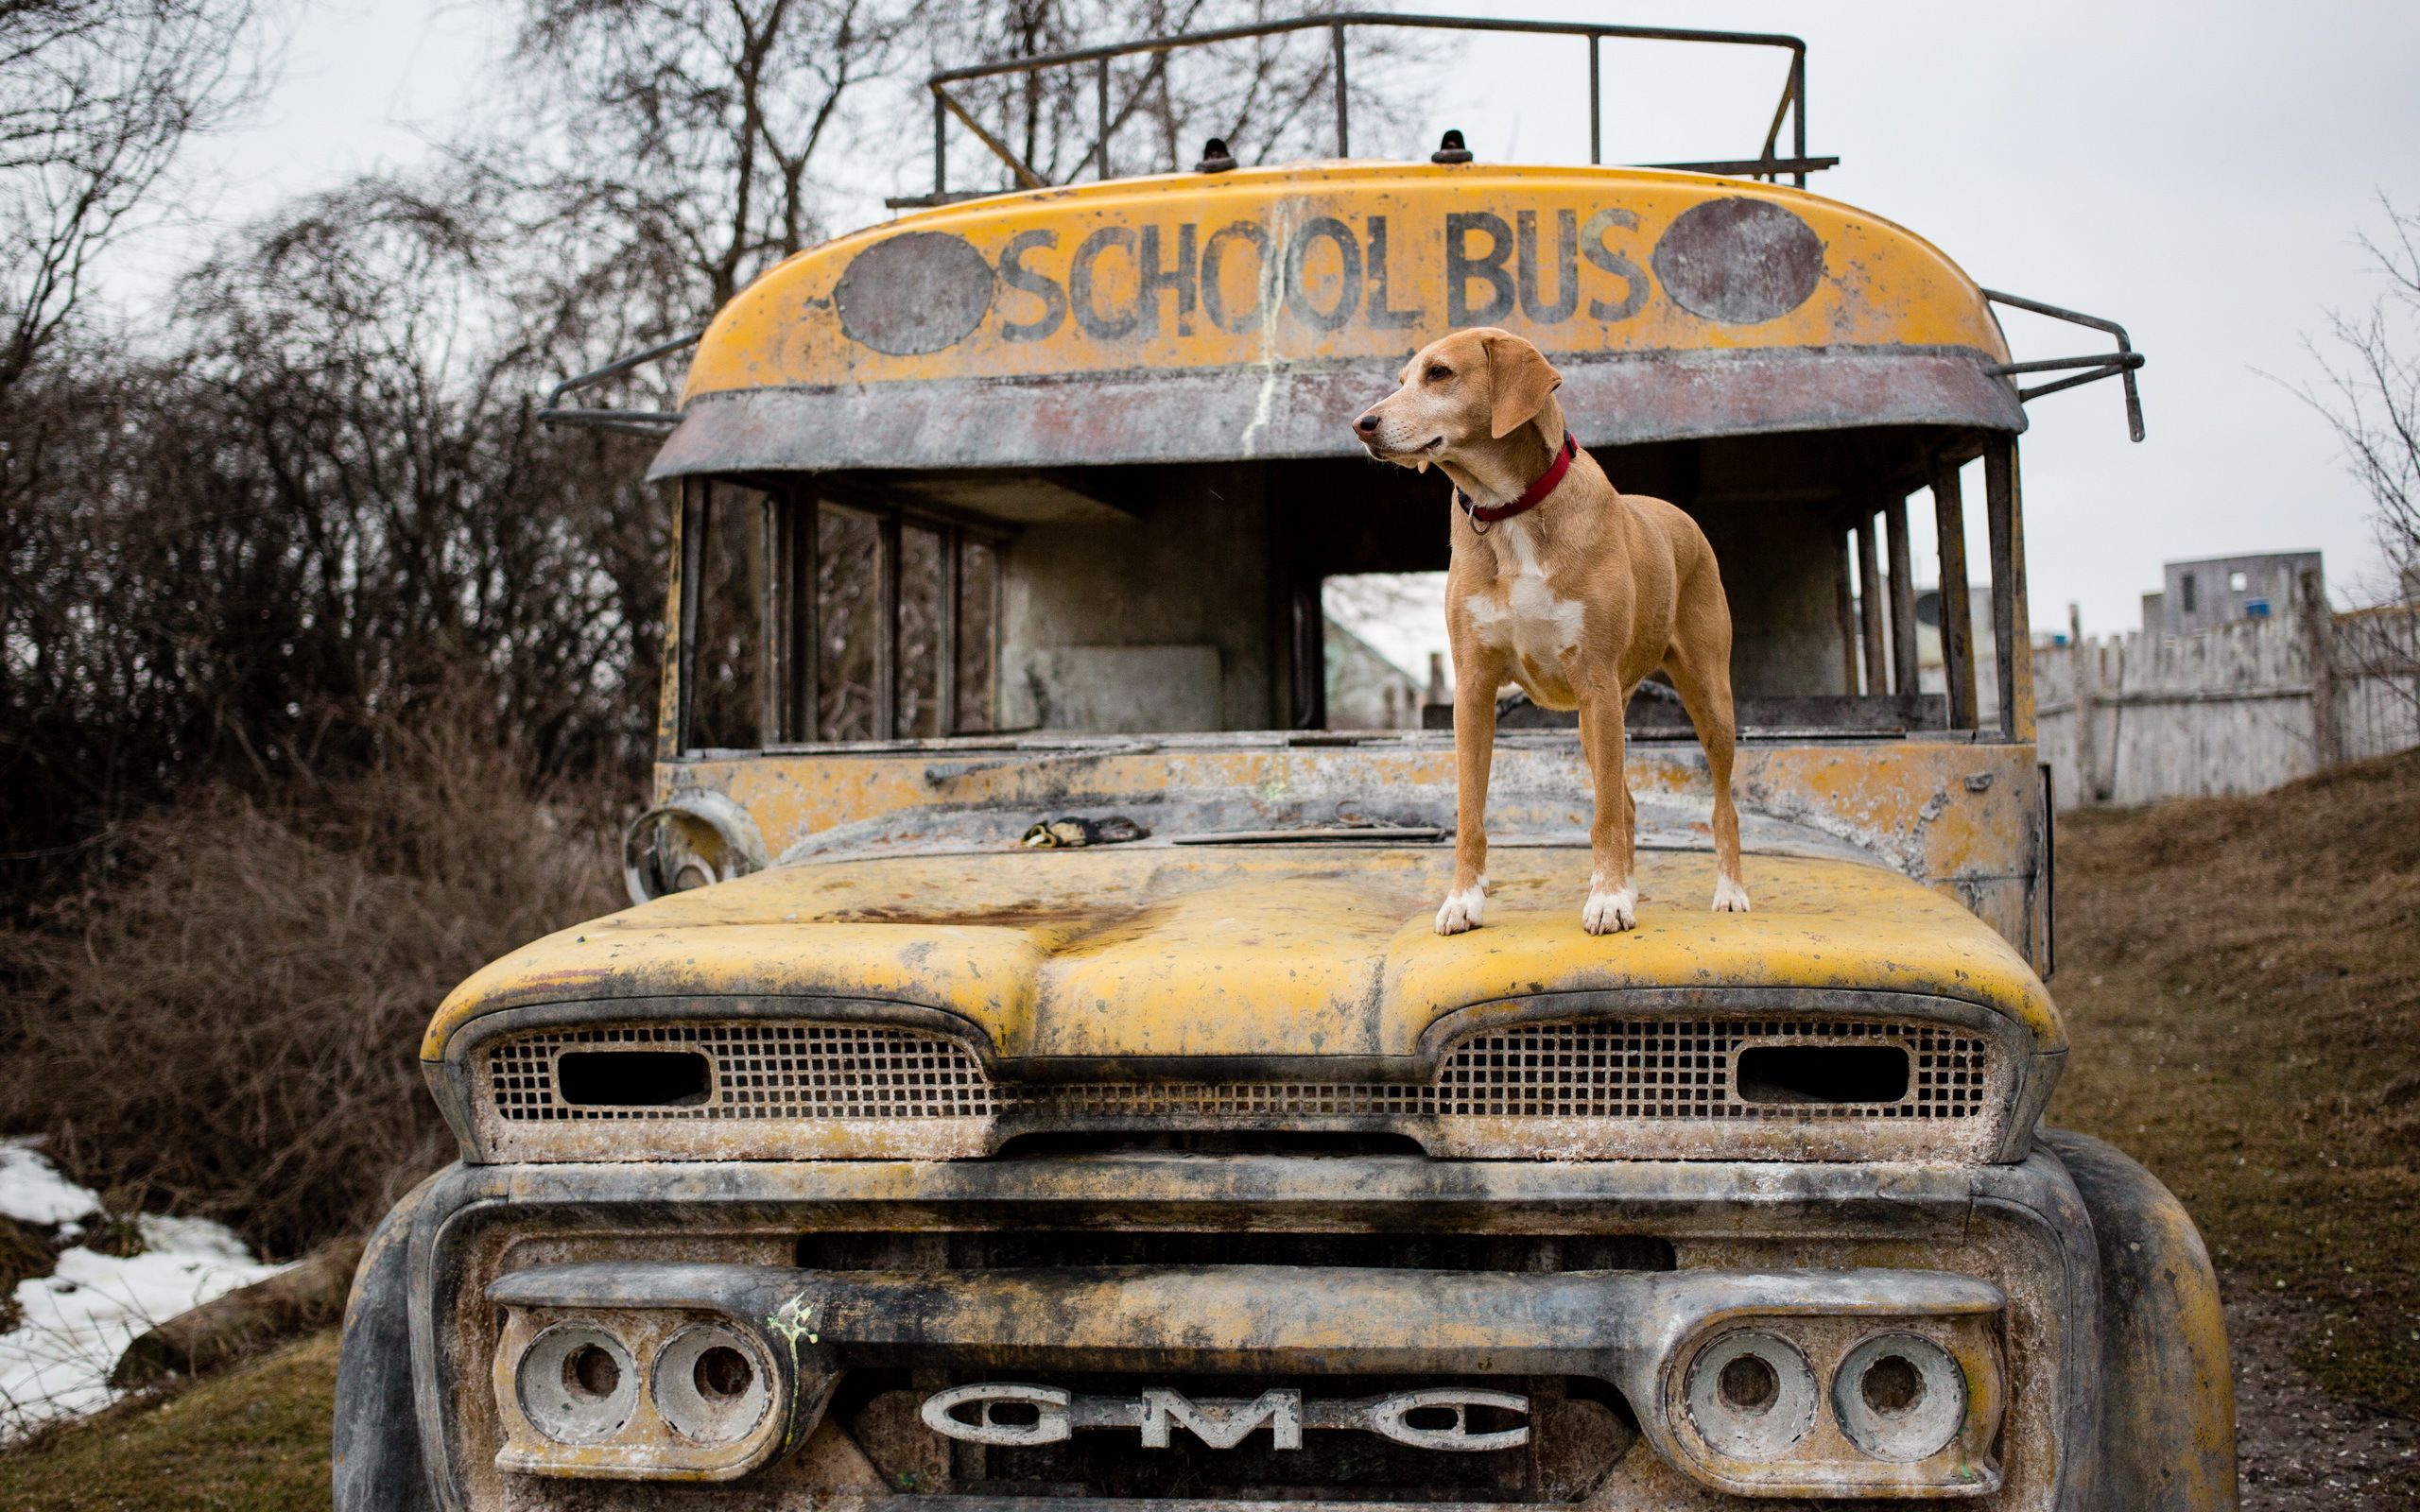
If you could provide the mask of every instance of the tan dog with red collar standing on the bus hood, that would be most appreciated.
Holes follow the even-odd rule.
[[[1595,457],[1568,448],[1554,397],[1561,382],[1544,353],[1510,331],[1454,331],[1413,356],[1401,387],[1353,423],[1372,457],[1423,472],[1435,462],[1462,491],[1445,578],[1454,885],[1437,934],[1481,922],[1488,757],[1505,682],[1544,709],[1580,711],[1580,750],[1597,789],[1580,927],[1609,934],[1638,922],[1638,808],[1621,777],[1621,711],[1658,668],[1679,689],[1713,774],[1713,907],[1747,912],[1730,803],[1730,605],[1713,547],[1696,520],[1663,498],[1617,491]],[[1561,477],[1549,481],[1558,460]]]

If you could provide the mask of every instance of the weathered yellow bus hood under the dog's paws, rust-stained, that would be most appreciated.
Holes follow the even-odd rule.
[[[779,866],[513,951],[445,999],[421,1055],[440,1060],[455,1031],[501,1009],[791,997],[939,1009],[1031,1072],[1198,1074],[1413,1057],[1423,1031],[1471,1004],[1658,987],[1948,997],[2013,1018],[2038,1052],[2067,1043],[1999,934],[1878,866],[1750,854],[1754,912],[1716,914],[1709,854],[1648,852],[1638,929],[1590,936],[1588,852],[1500,847],[1486,927],[1445,939],[1430,917],[1450,866],[1445,847]]]

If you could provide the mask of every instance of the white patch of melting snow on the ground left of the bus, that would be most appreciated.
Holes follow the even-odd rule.
[[[0,1181],[22,1176],[22,1185],[0,1185],[10,1200],[19,1190],[36,1198],[51,1193],[53,1202],[41,1212],[65,1212],[70,1202],[60,1193],[82,1193],[87,1202],[68,1217],[87,1217],[97,1207],[92,1193],[63,1181],[22,1142],[7,1154]],[[27,1164],[31,1173],[24,1173]],[[148,1248],[131,1260],[73,1246],[51,1275],[17,1282],[19,1323],[0,1335],[0,1444],[109,1406],[119,1396],[109,1372],[140,1333],[286,1270],[254,1260],[232,1229],[211,1219],[145,1212],[136,1229]]]

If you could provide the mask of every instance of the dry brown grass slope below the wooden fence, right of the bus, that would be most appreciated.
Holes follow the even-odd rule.
[[[2229,1285],[2316,1302],[2330,1391],[2420,1415],[2420,752],[2062,820],[2052,989],[2052,1123],[2151,1166]]]

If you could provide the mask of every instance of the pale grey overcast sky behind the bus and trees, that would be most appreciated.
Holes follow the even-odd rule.
[[[2038,627],[2064,629],[2076,600],[2086,634],[2132,629],[2178,556],[2323,549],[2340,602],[2376,588],[2369,503],[2287,385],[2318,375],[2304,339],[2326,312],[2376,295],[2355,240],[2384,225],[2376,196],[2420,208],[2420,5],[1459,10],[1805,36],[1808,145],[1842,157],[1813,189],[1914,227],[1989,288],[2132,331],[2149,353],[2144,445],[2125,438],[2115,382],[2033,404]],[[511,17],[496,0],[298,0],[278,92],[213,145],[215,213],[411,165],[484,114]],[[1423,87],[1423,140],[1355,150],[1408,155],[1459,126],[1481,160],[1585,162],[1585,80],[1578,41],[1457,41]],[[1607,160],[1752,155],[1779,87],[1781,53],[1609,44]],[[864,201],[859,218],[878,215]],[[2021,358],[2105,344],[2004,322]]]

